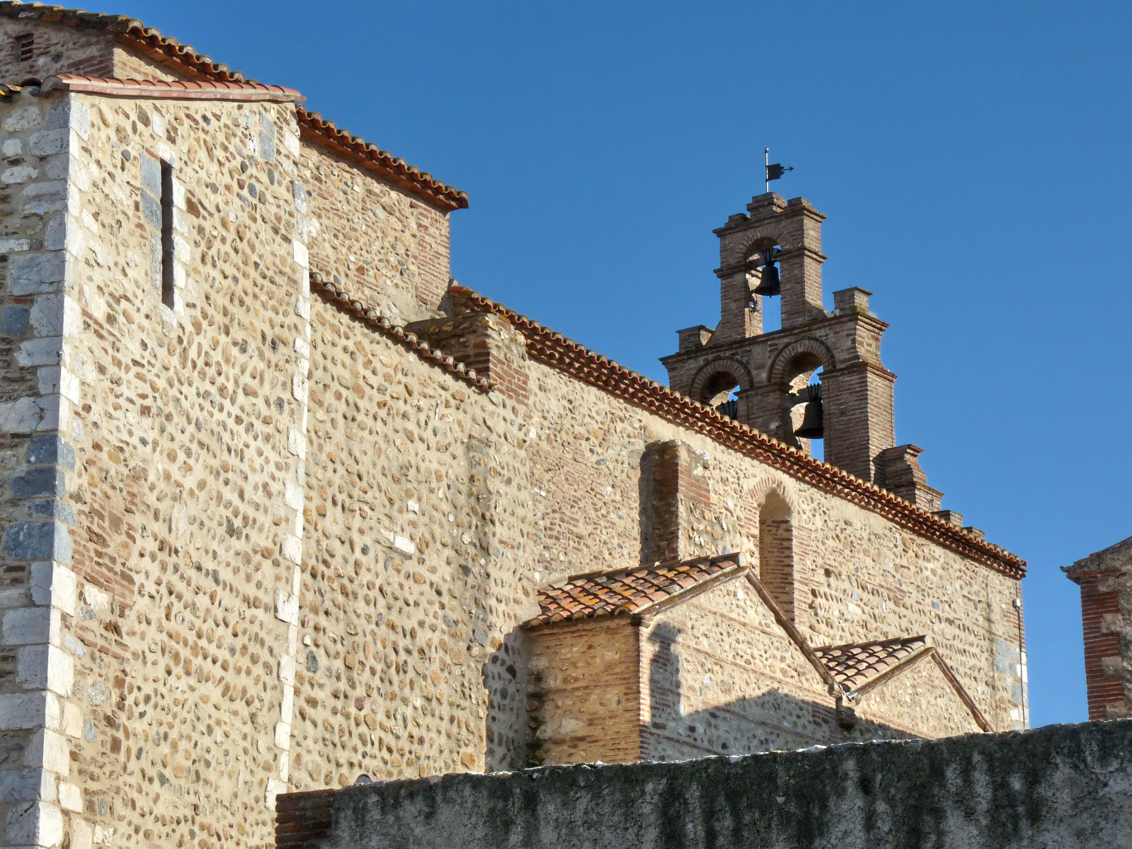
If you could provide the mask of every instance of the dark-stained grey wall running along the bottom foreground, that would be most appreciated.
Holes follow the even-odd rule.
[[[1117,849],[1132,722],[363,784],[277,820],[281,849]]]

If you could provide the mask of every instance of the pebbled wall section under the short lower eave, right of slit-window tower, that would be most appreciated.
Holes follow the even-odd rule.
[[[293,782],[520,765],[525,412],[332,305],[312,326]]]

